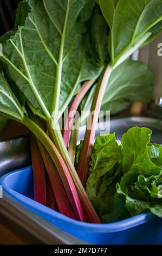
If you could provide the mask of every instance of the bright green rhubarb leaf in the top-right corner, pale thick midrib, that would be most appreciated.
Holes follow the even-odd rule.
[[[111,7],[110,7],[111,5]],[[161,0],[100,0],[103,16],[111,28],[111,58],[118,66],[137,48],[159,33],[157,24],[162,20]]]

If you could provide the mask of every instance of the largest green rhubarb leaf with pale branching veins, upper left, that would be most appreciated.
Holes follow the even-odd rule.
[[[50,117],[63,112],[78,84],[98,76],[101,66],[87,54],[86,26],[77,21],[87,0],[28,3],[31,13],[4,45],[2,59],[30,104]]]

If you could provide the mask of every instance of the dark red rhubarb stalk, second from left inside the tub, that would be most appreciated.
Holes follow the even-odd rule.
[[[51,160],[51,157],[48,154],[47,150],[43,147],[43,145],[40,142],[38,142],[38,146],[41,150],[41,154],[47,169],[51,187],[53,188],[57,208],[61,214],[74,219],[75,217],[72,208],[70,206],[67,194],[64,190],[61,178],[59,176],[59,173],[57,172],[55,164]]]

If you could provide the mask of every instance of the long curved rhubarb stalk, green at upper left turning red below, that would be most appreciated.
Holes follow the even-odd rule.
[[[37,124],[35,124],[34,121],[24,116],[22,119],[22,123],[25,126],[27,126],[30,131],[34,133],[34,135],[40,140],[40,142],[48,151],[51,159],[53,160],[57,168],[57,171],[59,172],[60,178],[68,195],[69,202],[72,206],[76,220],[85,222],[86,218],[82,209],[80,198],[77,194],[74,182],[69,174],[69,170],[66,166],[66,163],[62,159],[61,154],[55,147],[54,143],[46,135],[46,133]]]

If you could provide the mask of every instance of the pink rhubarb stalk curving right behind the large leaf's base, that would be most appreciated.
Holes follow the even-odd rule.
[[[70,135],[70,130],[72,128],[72,120],[74,119],[75,112],[77,111],[77,108],[79,107],[83,97],[85,97],[86,93],[92,87],[94,84],[95,80],[89,80],[83,83],[83,86],[81,87],[79,93],[75,96],[75,99],[69,109],[68,117],[66,120],[66,123],[64,124],[64,130],[63,130],[63,139],[64,143],[66,144],[66,147],[68,147],[69,143],[69,135]]]

